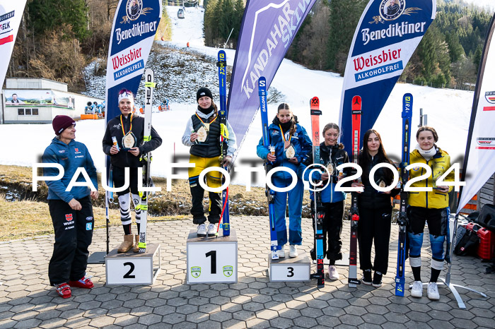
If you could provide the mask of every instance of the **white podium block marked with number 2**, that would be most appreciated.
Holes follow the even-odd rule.
[[[147,244],[145,253],[117,253],[105,258],[107,285],[153,285],[161,270],[160,244]]]

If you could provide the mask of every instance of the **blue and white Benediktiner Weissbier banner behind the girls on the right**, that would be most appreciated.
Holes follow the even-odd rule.
[[[436,0],[371,0],[364,9],[349,49],[340,101],[341,142],[347,152],[352,145],[352,97],[361,96],[364,133],[373,128],[435,15]]]

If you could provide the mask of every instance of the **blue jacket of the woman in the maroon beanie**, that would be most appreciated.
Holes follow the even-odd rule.
[[[48,186],[48,200],[63,200],[69,203],[73,198],[78,200],[89,196],[90,189],[87,186],[74,186],[71,191],[65,191],[78,167],[83,167],[86,170],[93,185],[98,189],[96,168],[88,152],[88,148],[83,143],[71,140],[69,145],[67,145],[55,137],[50,146],[45,149],[42,162],[58,163],[64,167],[64,177],[62,179],[46,181]],[[55,167],[44,168],[43,174],[45,176],[57,176],[59,169]],[[82,174],[79,174],[77,181],[85,181]]]

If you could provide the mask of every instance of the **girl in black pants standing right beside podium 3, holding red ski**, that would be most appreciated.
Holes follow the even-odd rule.
[[[320,173],[315,172],[315,178],[321,180],[323,185],[327,184],[327,180],[330,179],[328,186],[321,191],[322,203],[325,207],[325,217],[323,218],[323,237],[325,237],[323,238],[323,253],[327,255],[327,258],[330,261],[328,277],[330,280],[339,280],[339,273],[335,267],[335,261],[342,259],[342,240],[340,239],[340,234],[342,234],[342,216],[344,215],[346,193],[335,191],[335,185],[337,184],[337,181],[339,181],[339,177],[344,177],[344,175],[339,175],[335,168],[340,164],[349,162],[349,155],[344,151],[344,144],[337,144],[337,140],[340,136],[340,128],[337,124],[327,124],[325,128],[323,128],[322,136],[325,140],[320,144],[320,162],[327,167],[328,173],[323,172],[323,174],[320,175]],[[304,164],[305,166],[313,164],[312,152],[310,152],[308,159]],[[304,179],[308,180],[309,173],[310,170],[306,170]],[[329,173],[330,177],[328,176]],[[344,173],[342,172],[342,174]],[[310,192],[310,199],[313,200],[313,198],[313,192]],[[312,214],[315,213],[314,207],[315,204],[311,202]],[[313,220],[313,229],[314,228],[315,221]],[[311,258],[315,260],[315,249],[312,249],[310,253]]]

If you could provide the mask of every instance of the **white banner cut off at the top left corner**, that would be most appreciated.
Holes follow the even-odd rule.
[[[0,3],[0,89],[4,85],[13,44],[23,17],[26,0],[1,1]]]

